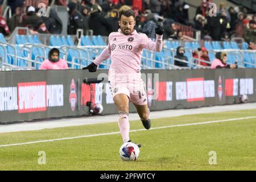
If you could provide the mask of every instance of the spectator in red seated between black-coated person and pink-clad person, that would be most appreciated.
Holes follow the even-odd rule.
[[[198,48],[197,51],[193,52],[193,58],[194,58],[196,64],[200,64],[204,67],[209,67],[210,66],[209,63],[205,63],[203,61],[199,62],[199,57],[200,57],[200,60],[210,61],[209,56],[208,56],[207,48],[205,48],[205,47]]]

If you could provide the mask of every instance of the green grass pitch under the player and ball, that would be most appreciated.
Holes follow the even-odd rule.
[[[152,119],[152,130],[130,133],[133,142],[142,143],[135,162],[119,157],[121,134],[0,147],[0,170],[256,170],[256,118],[154,129],[254,116],[256,110]],[[130,127],[143,129],[141,121],[131,121]],[[2,133],[0,146],[118,131],[113,122]],[[39,151],[45,152],[45,164],[38,163]],[[210,151],[216,152],[217,164],[209,163]]]

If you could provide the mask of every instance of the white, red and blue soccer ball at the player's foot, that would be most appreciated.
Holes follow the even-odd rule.
[[[135,161],[139,158],[139,147],[132,142],[123,143],[119,150],[122,160]]]

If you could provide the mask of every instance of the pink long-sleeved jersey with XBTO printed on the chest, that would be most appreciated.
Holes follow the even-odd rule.
[[[108,47],[101,52],[93,63],[99,65],[111,56],[112,64],[109,68],[109,81],[119,82],[123,76],[140,78],[141,57],[143,48],[160,52],[162,50],[163,36],[156,34],[156,41],[152,41],[146,34],[136,30],[125,35],[119,29],[109,35]],[[122,75],[122,76],[121,76]]]

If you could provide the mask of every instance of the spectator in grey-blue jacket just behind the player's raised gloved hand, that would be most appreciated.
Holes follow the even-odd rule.
[[[148,38],[155,40],[155,27],[157,26],[154,21],[154,14],[146,14],[144,16],[145,21],[142,27],[142,32],[148,36]]]

